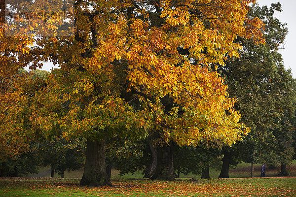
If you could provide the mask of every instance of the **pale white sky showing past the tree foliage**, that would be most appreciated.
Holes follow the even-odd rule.
[[[283,55],[285,67],[291,68],[293,78],[296,78],[296,64],[294,63],[295,46],[296,46],[296,18],[295,8],[296,0],[257,0],[260,6],[267,5],[270,7],[271,3],[280,2],[282,4],[282,12],[275,12],[275,17],[282,23],[288,24],[289,33],[286,37],[284,48],[280,50]],[[57,66],[55,66],[57,67]],[[42,69],[50,71],[53,68],[51,63],[44,63]]]

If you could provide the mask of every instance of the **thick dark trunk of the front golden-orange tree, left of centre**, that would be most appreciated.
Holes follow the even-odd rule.
[[[86,161],[80,185],[111,185],[106,171],[105,139],[87,139]]]

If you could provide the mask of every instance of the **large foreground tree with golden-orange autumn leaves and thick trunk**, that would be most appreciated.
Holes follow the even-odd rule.
[[[234,143],[247,131],[233,109],[235,99],[228,98],[222,78],[208,66],[223,64],[226,55],[238,56],[237,36],[263,42],[259,19],[246,18],[250,2],[76,0],[67,20],[37,17],[13,32],[20,42],[2,33],[1,43],[17,43],[1,51],[3,61],[14,55],[33,69],[48,60],[61,68],[34,85],[31,79],[15,84],[0,105],[5,111],[1,132],[86,137],[80,183],[92,186],[111,184],[105,144],[114,134],[141,138],[155,130],[164,146],[171,141]],[[45,4],[35,0],[25,5],[34,12]],[[21,10],[24,4],[12,7]],[[71,29],[71,20],[73,36],[64,28]],[[0,73],[11,67],[1,62]]]

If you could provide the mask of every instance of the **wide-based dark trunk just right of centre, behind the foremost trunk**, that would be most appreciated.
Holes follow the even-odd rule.
[[[173,143],[157,147],[156,170],[151,180],[175,180],[173,172]]]

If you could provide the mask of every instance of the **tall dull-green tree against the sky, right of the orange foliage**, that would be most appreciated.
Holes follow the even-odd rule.
[[[277,127],[275,119],[284,110],[293,110],[295,97],[291,72],[285,70],[278,52],[287,28],[273,16],[274,11],[281,11],[280,3],[273,3],[270,8],[252,5],[249,17],[259,17],[265,24],[265,45],[256,45],[252,40],[238,37],[236,41],[243,46],[239,51],[240,58],[229,58],[225,66],[218,68],[228,85],[230,97],[238,99],[235,108],[242,114],[241,121],[251,128],[243,143],[234,149],[240,147],[239,156],[243,156],[240,158],[252,166],[260,153],[266,151],[263,147],[268,147],[273,139],[270,129]],[[223,162],[229,163],[227,158],[231,159],[224,154]],[[221,175],[221,178],[228,177],[226,172],[221,172]]]

